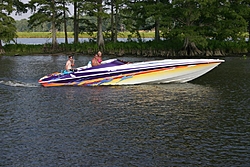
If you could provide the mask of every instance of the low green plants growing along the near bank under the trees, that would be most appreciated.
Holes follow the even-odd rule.
[[[218,41],[209,39],[205,50],[221,50],[231,54],[247,53],[250,50],[248,43],[235,43],[233,41]],[[147,51],[153,51],[155,56],[159,51],[173,51],[177,52],[182,48],[183,41],[176,38],[171,40],[161,41],[147,41],[147,42],[107,42],[105,46],[105,55],[122,55],[145,53]],[[198,45],[199,46],[199,45]],[[199,46],[200,47],[200,46]],[[44,45],[26,45],[26,44],[7,44],[4,49],[8,55],[26,55],[26,54],[53,54],[53,53],[80,53],[84,55],[93,55],[98,52],[98,46],[96,42],[83,42],[83,43],[71,43],[71,44],[59,44],[57,50],[52,50],[52,44],[46,43]],[[147,56],[147,55],[145,55]],[[164,55],[161,55],[164,56]]]

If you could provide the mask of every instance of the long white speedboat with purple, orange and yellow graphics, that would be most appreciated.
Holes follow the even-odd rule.
[[[164,59],[128,63],[109,59],[95,67],[86,65],[72,72],[55,72],[38,82],[44,87],[185,83],[222,62],[221,59]]]

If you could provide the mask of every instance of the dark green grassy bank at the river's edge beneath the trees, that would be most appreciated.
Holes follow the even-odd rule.
[[[202,54],[197,56],[226,56],[226,55],[248,55],[250,44],[238,44],[230,41],[218,42],[208,40],[208,47],[200,48]],[[134,55],[134,56],[162,56],[162,57],[180,57],[183,41],[178,39],[165,41],[147,41],[147,42],[106,42],[104,55]],[[58,44],[53,48],[50,43],[41,45],[27,44],[7,44],[3,47],[4,55],[34,55],[34,54],[83,54],[94,55],[99,48],[96,42]],[[185,56],[185,55],[184,55]]]

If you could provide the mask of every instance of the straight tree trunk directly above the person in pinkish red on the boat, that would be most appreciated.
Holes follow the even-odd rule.
[[[102,13],[102,0],[98,0],[98,13]],[[102,34],[102,17],[101,14],[97,17],[97,26],[98,26],[98,32],[97,32],[97,45],[99,47],[100,51],[104,51],[104,39]]]

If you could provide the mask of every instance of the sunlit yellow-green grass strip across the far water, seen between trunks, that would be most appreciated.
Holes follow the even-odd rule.
[[[142,38],[154,38],[154,32],[140,32]],[[68,38],[74,38],[73,32],[67,33]],[[109,35],[109,34],[105,34]],[[17,32],[18,38],[51,38],[51,32]],[[64,38],[64,32],[57,32],[57,38]],[[79,38],[93,38],[96,37],[96,33],[93,36],[89,34],[81,33],[79,34]],[[134,37],[130,32],[119,32],[118,38],[128,38]]]

